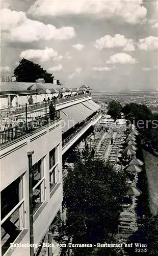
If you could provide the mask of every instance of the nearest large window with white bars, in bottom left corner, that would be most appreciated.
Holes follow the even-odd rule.
[[[1,192],[2,255],[24,229],[23,176]]]

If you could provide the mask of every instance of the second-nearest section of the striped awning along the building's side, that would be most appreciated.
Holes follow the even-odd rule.
[[[81,123],[84,121],[87,117],[86,114],[82,113],[81,111],[74,108],[74,106],[69,106],[66,109],[63,109],[62,112],[66,114],[67,116],[71,117],[72,120],[76,123]]]

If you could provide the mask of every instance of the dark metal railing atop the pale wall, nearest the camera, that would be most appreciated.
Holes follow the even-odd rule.
[[[47,115],[27,123],[23,122],[18,126],[15,126],[13,128],[11,127],[10,129],[0,132],[1,145],[13,139],[17,139],[25,134],[32,133],[43,126],[55,120],[58,120],[60,118],[60,111],[56,111],[52,115],[53,115],[53,118],[51,118],[52,120],[50,120],[50,116]]]

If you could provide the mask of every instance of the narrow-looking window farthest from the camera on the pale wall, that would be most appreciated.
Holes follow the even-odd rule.
[[[49,152],[49,184],[50,191],[56,186],[59,181],[58,168],[58,146]]]

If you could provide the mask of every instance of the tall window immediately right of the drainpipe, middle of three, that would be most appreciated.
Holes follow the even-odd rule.
[[[45,179],[43,172],[44,158],[39,160],[32,167],[33,172],[33,212],[39,208],[42,202],[45,200]]]

